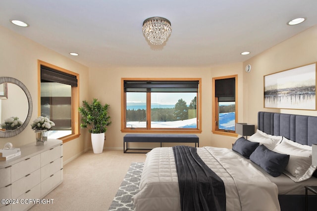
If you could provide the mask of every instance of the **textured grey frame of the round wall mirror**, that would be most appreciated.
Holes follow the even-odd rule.
[[[12,130],[12,131],[0,131],[1,138],[9,138],[9,137],[13,137],[13,136],[19,134],[20,132],[22,132],[25,129],[25,127],[28,126],[30,119],[31,119],[31,116],[32,116],[33,104],[32,104],[31,94],[30,94],[29,90],[27,89],[27,87],[22,82],[20,82],[19,80],[15,79],[15,78],[11,78],[11,77],[0,77],[0,84],[3,84],[3,83],[11,83],[11,84],[16,84],[16,85],[20,86],[20,88],[22,88],[22,90],[24,91],[24,93],[28,99],[28,104],[29,104],[29,110],[28,110],[28,115],[26,117],[26,120],[19,128]]]

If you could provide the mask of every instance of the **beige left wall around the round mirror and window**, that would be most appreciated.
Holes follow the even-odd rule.
[[[88,67],[74,62],[65,56],[21,37],[3,27],[0,27],[0,46],[0,77],[16,78],[28,88],[33,101],[31,122],[38,115],[38,59],[79,73],[80,99],[87,98],[89,84]],[[83,130],[81,130],[81,132],[83,134],[79,138],[64,144],[64,162],[78,156],[89,147],[88,143],[90,140],[87,140],[89,139],[89,136],[87,138],[87,132]],[[32,142],[35,144],[35,134],[29,124],[20,134],[14,137],[0,138],[0,148],[2,148],[6,142],[11,142],[14,147]]]

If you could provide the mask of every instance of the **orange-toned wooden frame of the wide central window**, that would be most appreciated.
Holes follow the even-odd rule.
[[[124,81],[199,81],[196,103],[198,106],[197,111],[197,128],[150,128],[147,124],[147,128],[129,128],[126,127],[126,92],[124,91]],[[121,132],[129,133],[201,133],[202,121],[201,121],[201,90],[202,90],[201,78],[121,78]],[[147,92],[147,101],[151,99],[151,92]],[[148,119],[150,118],[150,119]],[[147,121],[151,120],[151,104],[147,103]]]

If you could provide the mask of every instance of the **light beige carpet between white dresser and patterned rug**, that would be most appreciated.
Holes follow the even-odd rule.
[[[123,150],[90,150],[64,166],[63,183],[45,197],[53,204],[35,205],[30,211],[107,211],[131,163],[145,158]]]

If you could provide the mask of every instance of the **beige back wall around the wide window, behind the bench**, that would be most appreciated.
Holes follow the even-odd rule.
[[[91,98],[98,98],[102,103],[110,105],[112,125],[106,132],[105,146],[108,149],[122,149],[123,136],[120,131],[121,121],[121,78],[201,78],[202,79],[202,133],[200,146],[231,147],[236,138],[214,135],[211,132],[211,82],[212,77],[239,74],[239,89],[242,90],[242,63],[219,67],[133,67],[90,69]],[[101,77],[102,76],[102,77]],[[243,94],[239,94],[242,102]],[[91,100],[91,99],[89,99]],[[241,108],[241,109],[240,109]],[[242,113],[242,106],[239,107]],[[242,117],[242,115],[241,115]],[[239,118],[241,119],[241,118]],[[241,119],[242,120],[242,119]],[[131,145],[132,146],[132,145]],[[144,143],[134,147],[153,146]],[[156,144],[158,146],[158,144]],[[168,146],[168,145],[164,145]]]

